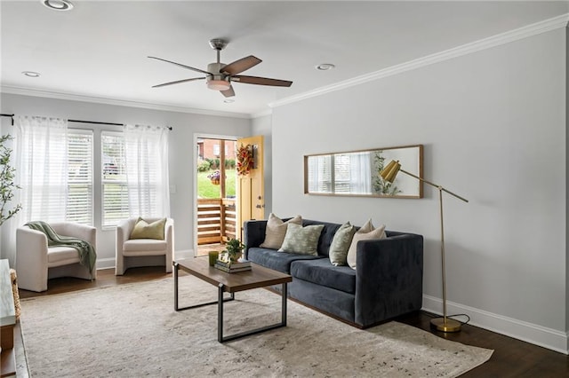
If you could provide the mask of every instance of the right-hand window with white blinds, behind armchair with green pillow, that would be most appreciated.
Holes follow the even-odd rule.
[[[129,217],[122,133],[101,134],[102,227],[113,227]]]

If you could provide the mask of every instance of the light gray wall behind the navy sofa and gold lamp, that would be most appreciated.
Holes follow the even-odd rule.
[[[437,191],[421,200],[303,194],[302,156],[422,144],[445,196],[449,313],[567,350],[566,34],[556,29],[273,110],[277,216],[425,237],[423,307],[442,311]],[[341,67],[339,67],[341,69]]]

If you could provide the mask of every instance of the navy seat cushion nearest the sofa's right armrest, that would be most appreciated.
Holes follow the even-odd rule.
[[[327,258],[293,261],[291,275],[293,278],[333,287],[345,293],[356,293],[356,271],[349,266],[334,266]]]

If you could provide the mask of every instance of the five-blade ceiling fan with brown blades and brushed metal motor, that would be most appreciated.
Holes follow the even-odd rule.
[[[172,63],[173,65],[182,68],[188,68],[192,71],[196,71],[205,75],[202,77],[193,77],[191,79],[183,79],[183,80],[177,80],[175,82],[162,83],[154,85],[152,88],[165,87],[166,85],[187,83],[187,82],[193,82],[196,80],[205,79],[207,83],[207,88],[213,91],[220,91],[221,94],[225,97],[232,97],[235,96],[235,91],[233,91],[233,86],[231,85],[232,82],[256,84],[256,85],[269,85],[275,87],[290,87],[293,84],[293,82],[289,82],[287,80],[269,79],[268,77],[238,75],[246,71],[247,69],[258,65],[262,60],[252,55],[249,55],[248,57],[237,59],[236,61],[229,63],[228,65],[223,64],[220,62],[220,51],[225,49],[227,45],[228,41],[224,39],[215,38],[210,40],[210,46],[212,46],[213,50],[217,51],[217,62],[208,64],[207,71],[195,67],[189,67],[166,59],[148,57],[150,59],[157,59],[167,63]]]

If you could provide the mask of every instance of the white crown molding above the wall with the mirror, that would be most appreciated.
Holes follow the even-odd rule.
[[[282,98],[269,103],[268,106],[270,107],[284,106],[292,104],[294,102],[301,101],[306,98],[321,96],[325,93],[330,93],[333,91],[341,91],[343,89],[353,87],[359,84],[369,83],[374,80],[380,80],[384,77],[401,74],[406,71],[411,71],[413,69],[429,66],[431,64],[439,63],[448,59],[453,59],[473,52],[490,49],[495,46],[500,46],[501,44],[515,42],[520,39],[524,39],[528,36],[539,35],[541,33],[546,33],[551,30],[555,30],[557,28],[567,28],[568,23],[569,23],[569,13],[565,13],[548,20],[542,20],[540,22],[527,25],[523,28],[513,29],[508,32],[501,33],[499,35],[493,35],[484,39],[480,39],[475,42],[462,44],[461,46],[454,47],[453,49],[440,51],[419,59],[413,59],[405,63],[398,64],[396,66],[387,67],[379,71],[372,72],[370,74],[359,75],[349,80],[345,80],[339,83],[334,83],[331,85],[326,85],[324,87],[318,88],[315,91],[308,91],[295,96]]]

